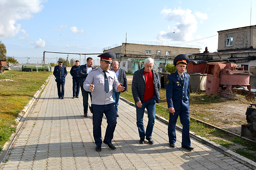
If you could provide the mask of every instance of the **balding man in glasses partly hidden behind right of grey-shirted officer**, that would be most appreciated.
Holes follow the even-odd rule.
[[[125,87],[125,93],[128,91],[128,82],[126,79],[125,71],[121,68],[119,68],[119,62],[114,61],[112,64],[112,70],[115,71],[116,77],[120,83],[122,83],[122,86]],[[118,115],[118,105],[119,105],[119,98],[120,98],[121,91],[117,91],[113,88],[113,99],[115,102],[115,109],[116,109],[116,117],[119,117]]]

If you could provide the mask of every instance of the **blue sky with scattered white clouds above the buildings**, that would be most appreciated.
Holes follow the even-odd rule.
[[[256,25],[256,0],[0,0],[0,41],[19,63],[79,59],[128,43],[218,48],[218,32]],[[97,55],[93,57],[97,65]],[[28,59],[29,58],[29,59]],[[98,63],[97,63],[98,62]]]

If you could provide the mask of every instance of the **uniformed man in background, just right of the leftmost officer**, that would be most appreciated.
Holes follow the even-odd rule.
[[[80,91],[80,77],[78,75],[80,65],[79,65],[79,60],[76,60],[75,65],[73,65],[70,69],[70,74],[73,79],[73,99],[74,98],[79,98],[79,91]]]

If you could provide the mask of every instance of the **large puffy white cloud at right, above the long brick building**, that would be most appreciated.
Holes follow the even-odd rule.
[[[164,15],[164,19],[170,22],[175,22],[174,26],[168,26],[169,32],[160,31],[157,35],[157,39],[160,41],[189,41],[192,40],[192,35],[197,30],[198,22],[195,19],[195,15],[192,11],[178,9],[164,8],[160,14]],[[202,14],[200,11],[195,13],[201,20],[207,18],[206,14]]]

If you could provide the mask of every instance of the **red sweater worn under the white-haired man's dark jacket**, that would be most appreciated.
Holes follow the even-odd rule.
[[[153,71],[150,71],[150,73],[147,73],[145,71],[145,91],[144,91],[144,97],[143,102],[146,102],[154,97],[154,82],[153,82]]]

